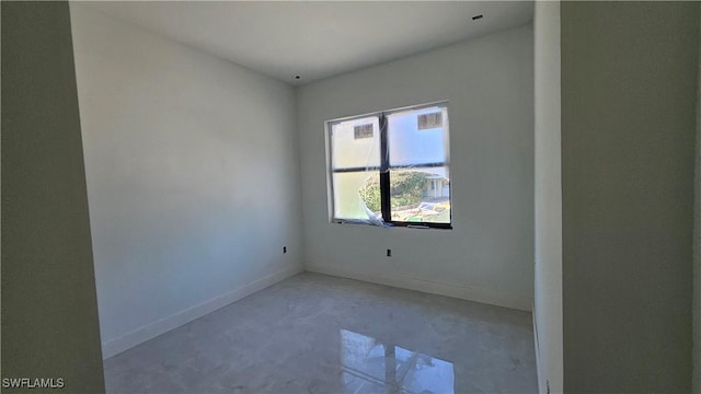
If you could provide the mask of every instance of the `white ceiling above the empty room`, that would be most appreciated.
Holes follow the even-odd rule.
[[[291,84],[524,25],[531,1],[93,1],[90,7]],[[483,15],[472,20],[475,15]],[[299,79],[296,77],[299,76]]]

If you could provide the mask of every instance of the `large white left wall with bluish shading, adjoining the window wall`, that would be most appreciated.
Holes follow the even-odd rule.
[[[300,271],[294,89],[71,19],[105,356]]]

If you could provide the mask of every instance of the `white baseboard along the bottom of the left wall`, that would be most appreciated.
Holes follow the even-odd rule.
[[[222,306],[226,306],[232,302],[250,296],[256,291],[263,290],[268,286],[275,285],[280,280],[287,279],[294,275],[302,273],[303,267],[296,267],[291,269],[281,270],[279,273],[271,274],[258,280],[243,285],[237,289],[233,289],[219,297],[215,297],[197,305],[191,306],[184,311],[177,312],[168,317],[163,317],[153,323],[141,326],[130,333],[122,335],[119,337],[106,340],[102,344],[102,357],[103,359],[118,355],[129,348],[133,348],[141,343],[152,339],[163,333],[177,328],[185,323],[189,323],[197,317],[202,317],[207,313],[216,311]]]

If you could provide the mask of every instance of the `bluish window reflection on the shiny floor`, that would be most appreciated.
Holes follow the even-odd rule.
[[[341,364],[347,393],[455,392],[451,362],[341,329]]]

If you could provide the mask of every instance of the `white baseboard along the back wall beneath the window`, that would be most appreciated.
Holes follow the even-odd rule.
[[[343,278],[357,279],[374,283],[387,285],[403,289],[417,290],[432,294],[447,296],[461,300],[475,301],[491,305],[505,306],[520,311],[531,312],[533,299],[518,294],[502,293],[471,286],[458,286],[434,282],[423,279],[388,276],[380,273],[370,273],[356,269],[330,267],[326,265],[306,264],[308,271],[332,275]]]

